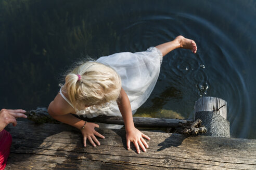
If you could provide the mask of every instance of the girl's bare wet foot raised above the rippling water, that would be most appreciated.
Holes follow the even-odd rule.
[[[182,35],[177,36],[174,40],[180,44],[180,48],[190,49],[193,53],[197,52],[197,45],[194,40],[187,39]]]

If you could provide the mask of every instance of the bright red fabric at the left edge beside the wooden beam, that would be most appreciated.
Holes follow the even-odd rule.
[[[0,170],[6,166],[7,159],[10,154],[11,134],[6,130],[0,132]]]

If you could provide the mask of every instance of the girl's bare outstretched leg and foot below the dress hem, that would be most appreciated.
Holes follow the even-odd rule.
[[[197,52],[197,45],[195,41],[191,39],[187,39],[182,35],[177,36],[173,41],[158,45],[156,46],[156,48],[158,48],[162,52],[163,56],[177,48],[189,49],[193,53]]]

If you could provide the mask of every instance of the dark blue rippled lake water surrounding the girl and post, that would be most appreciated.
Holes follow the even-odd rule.
[[[164,57],[138,115],[193,117],[201,96],[223,98],[233,137],[256,138],[256,1],[0,0],[0,108],[48,106],[74,61],[144,51],[177,35],[196,54]]]

